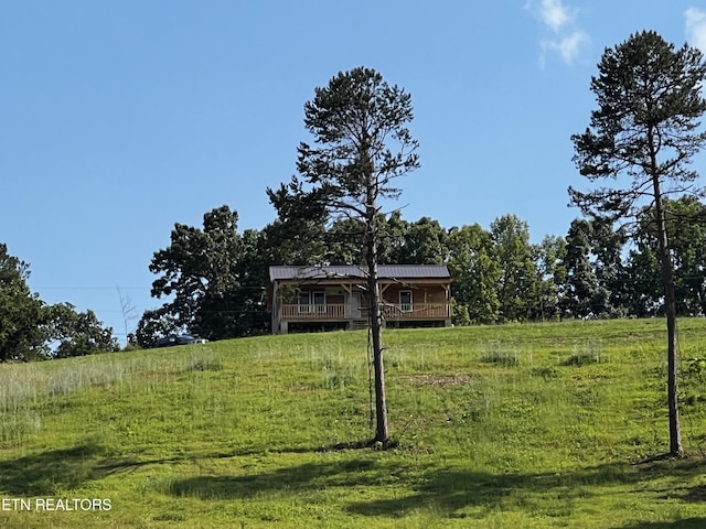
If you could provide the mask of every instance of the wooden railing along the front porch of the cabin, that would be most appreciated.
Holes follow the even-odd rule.
[[[446,320],[451,317],[448,303],[385,303],[385,320]],[[357,309],[344,303],[282,305],[280,320],[325,321],[357,320],[367,317],[367,307]]]

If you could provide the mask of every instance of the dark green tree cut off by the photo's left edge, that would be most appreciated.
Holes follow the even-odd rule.
[[[0,244],[0,361],[46,357],[43,303],[26,280],[30,267]]]

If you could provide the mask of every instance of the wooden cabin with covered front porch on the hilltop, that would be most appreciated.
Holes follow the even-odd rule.
[[[269,268],[272,334],[366,328],[366,270],[359,266]],[[379,264],[383,324],[451,326],[451,276],[439,264]]]

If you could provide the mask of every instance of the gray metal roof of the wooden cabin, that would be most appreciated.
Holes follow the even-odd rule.
[[[269,280],[365,278],[365,267],[269,267]],[[378,264],[381,279],[445,279],[450,278],[443,264]]]

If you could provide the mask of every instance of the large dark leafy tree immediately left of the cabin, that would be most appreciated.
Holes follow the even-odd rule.
[[[257,234],[237,233],[237,213],[221,206],[204,215],[203,229],[175,224],[171,245],[154,252],[150,271],[160,274],[152,295],[171,298],[138,325],[148,346],[159,330],[185,330],[207,339],[246,336],[266,328],[261,276],[252,276]],[[249,252],[249,253],[246,253]],[[255,284],[254,284],[255,283]],[[255,317],[257,312],[257,317]],[[253,326],[254,321],[259,326]]]

